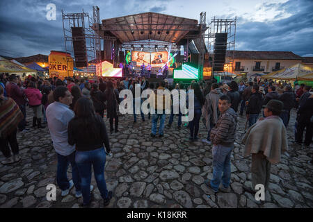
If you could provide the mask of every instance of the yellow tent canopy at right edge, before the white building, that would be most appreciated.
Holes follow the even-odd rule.
[[[313,68],[300,63],[287,67],[271,74],[261,76],[261,78],[271,78],[278,80],[313,80]]]

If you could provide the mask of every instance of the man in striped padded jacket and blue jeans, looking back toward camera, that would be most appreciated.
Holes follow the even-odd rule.
[[[220,191],[230,191],[230,157],[234,148],[237,117],[236,112],[230,108],[231,105],[229,96],[220,96],[218,100],[220,117],[210,135],[211,142],[214,144],[212,149],[213,178],[204,183],[215,193],[218,192],[220,182],[223,184]]]

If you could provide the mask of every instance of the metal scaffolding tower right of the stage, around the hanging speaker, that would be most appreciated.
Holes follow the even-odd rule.
[[[236,42],[236,17],[234,19],[217,19],[213,17],[209,24],[208,33],[205,34],[207,40],[207,49],[212,57],[212,67],[218,67],[214,62],[214,45],[216,43],[216,33],[227,33],[227,44],[225,53],[225,65],[223,65],[223,74],[233,73],[234,67],[234,49]],[[217,65],[217,66],[216,66]],[[212,69],[212,77],[214,76]]]

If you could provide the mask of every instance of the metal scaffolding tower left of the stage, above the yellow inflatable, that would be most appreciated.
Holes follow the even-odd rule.
[[[98,8],[99,9],[99,8]],[[95,13],[95,12],[94,12]],[[94,16],[94,19],[99,18],[99,14]],[[86,59],[87,71],[88,62],[90,60],[95,61],[95,48],[99,47],[99,42],[96,41],[95,31],[93,31],[93,19],[88,15],[88,12],[82,13],[67,13],[65,14],[62,10],[62,20],[63,20],[63,34],[65,42],[65,51],[67,53],[74,54],[73,40],[83,40],[86,42],[86,51],[77,51],[78,53],[85,54],[86,56],[77,59]],[[83,33],[80,36],[72,36],[72,27],[82,27]],[[97,40],[98,41],[98,40]],[[101,47],[101,44],[100,44]],[[100,52],[101,53],[101,52]]]

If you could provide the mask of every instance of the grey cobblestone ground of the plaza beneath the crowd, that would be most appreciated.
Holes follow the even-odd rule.
[[[30,125],[31,110],[27,114]],[[177,117],[163,138],[152,139],[151,120],[146,116],[143,122],[139,116],[137,123],[131,115],[120,117],[120,133],[110,135],[113,157],[106,159],[105,176],[113,198],[108,207],[313,207],[313,166],[308,163],[312,144],[310,148],[292,144],[294,110],[288,128],[289,155],[282,155],[280,164],[272,166],[264,205],[242,189],[243,184],[251,183],[251,158],[242,157],[240,144],[246,119],[239,117],[236,131],[232,189],[213,194],[204,185],[212,177],[212,155],[211,146],[200,140],[207,135],[203,124],[198,142],[186,140],[188,128],[176,129]],[[108,120],[106,126],[109,128]],[[82,198],[74,197],[74,188],[64,198],[57,189],[56,201],[46,199],[46,186],[56,184],[56,154],[47,127],[19,133],[17,140],[22,161],[0,164],[0,207],[79,207]],[[2,154],[0,160],[4,160]],[[70,169],[68,176],[71,178]],[[92,184],[92,207],[103,207],[94,178]]]

